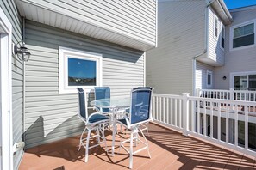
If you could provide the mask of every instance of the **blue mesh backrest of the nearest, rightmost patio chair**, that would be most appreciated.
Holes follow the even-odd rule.
[[[149,120],[151,94],[151,88],[134,88],[132,90],[130,124],[136,124]]]

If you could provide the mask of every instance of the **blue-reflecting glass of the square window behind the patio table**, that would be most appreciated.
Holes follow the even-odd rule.
[[[96,86],[96,61],[68,57],[68,86]]]

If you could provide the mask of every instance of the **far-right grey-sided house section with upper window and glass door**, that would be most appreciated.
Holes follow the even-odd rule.
[[[225,64],[215,67],[215,89],[256,89],[256,6],[231,9],[226,27]],[[226,76],[226,80],[222,80]]]

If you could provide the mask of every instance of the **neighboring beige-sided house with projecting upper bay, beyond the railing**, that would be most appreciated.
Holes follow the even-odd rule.
[[[147,85],[156,93],[194,94],[223,82],[215,68],[225,65],[225,27],[232,21],[222,0],[159,1],[158,48],[147,52]]]

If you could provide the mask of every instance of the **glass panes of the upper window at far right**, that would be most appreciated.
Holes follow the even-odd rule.
[[[233,29],[233,48],[254,45],[254,23]]]

